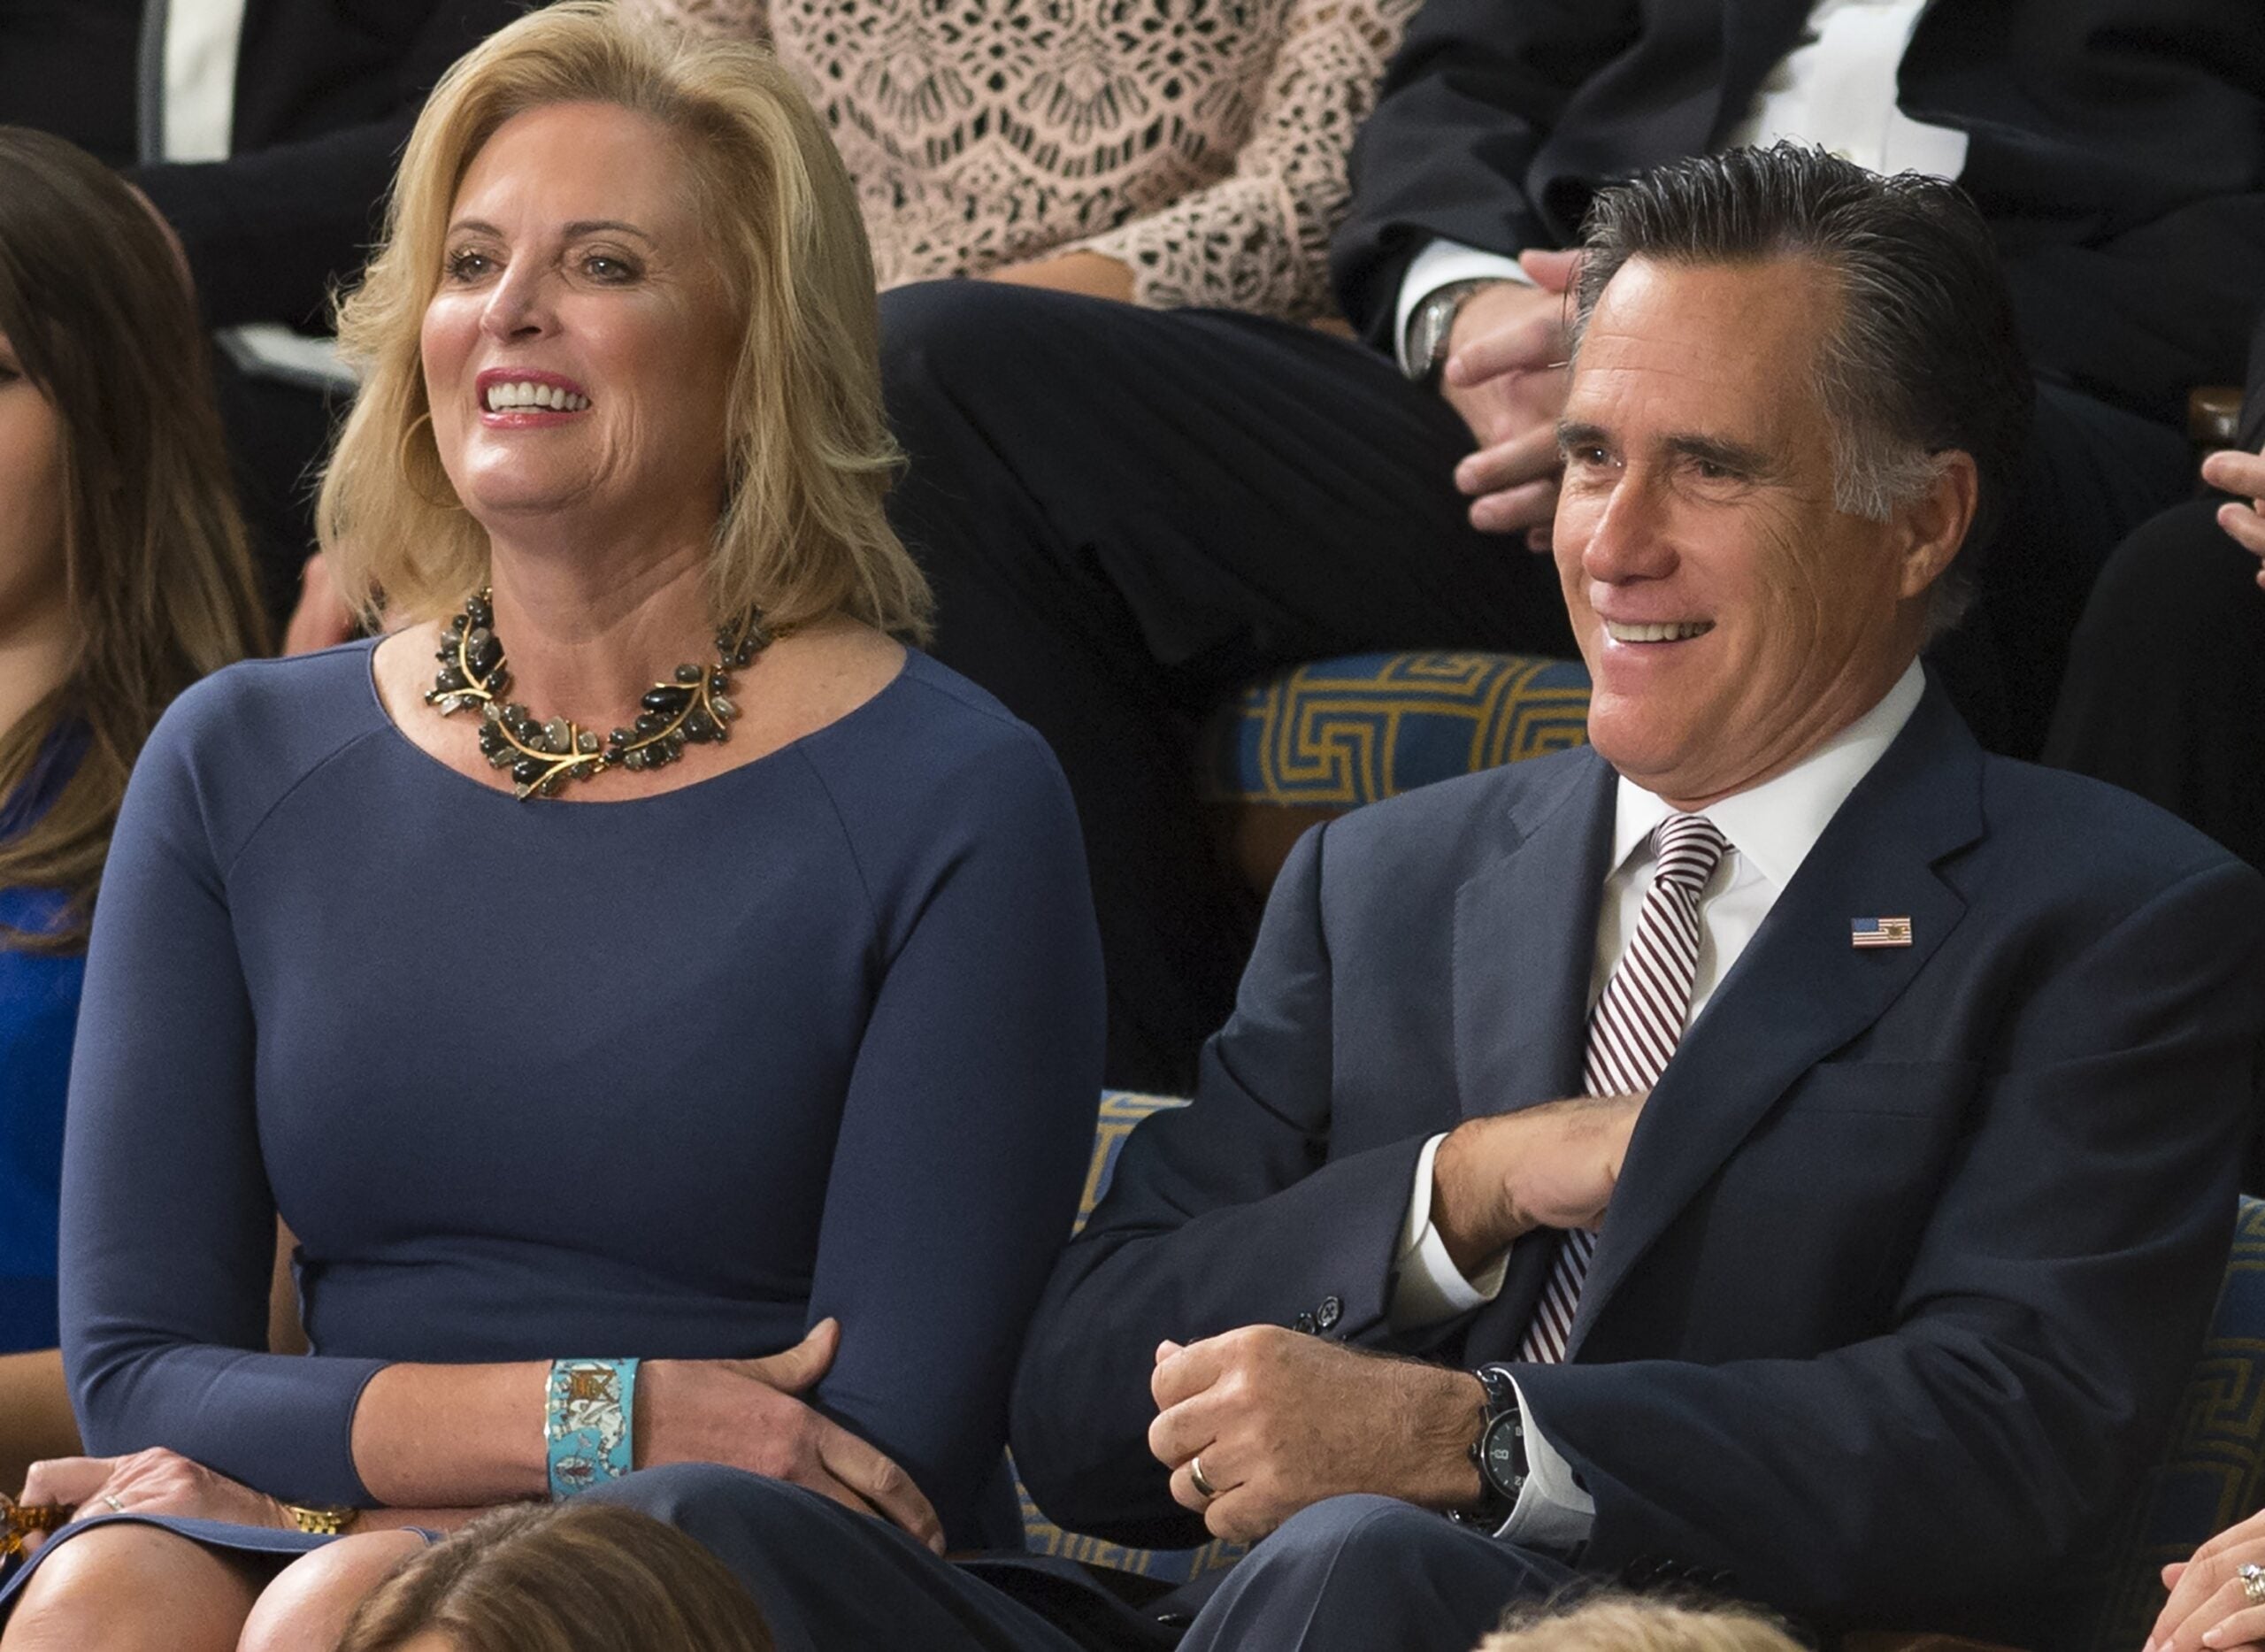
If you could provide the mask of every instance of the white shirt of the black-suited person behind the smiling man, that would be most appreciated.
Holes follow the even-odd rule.
[[[1912,120],[1896,107],[1896,70],[1918,27],[1925,0],[1817,0],[1794,45],[1762,77],[1746,118],[1724,147],[1778,138],[1817,143],[1873,172],[1925,172],[1957,179],[1966,170],[1966,134]],[[1409,367],[1409,317],[1454,281],[1529,281],[1515,258],[1456,240],[1434,240],[1400,276],[1400,363]]]

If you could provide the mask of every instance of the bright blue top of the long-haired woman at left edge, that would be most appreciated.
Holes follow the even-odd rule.
[[[54,800],[86,750],[68,727],[0,800],[0,838]],[[43,888],[0,888],[0,925],[39,934],[63,913]],[[84,954],[0,945],[0,1353],[54,1346],[54,1203],[63,1174],[63,1083],[79,1020]],[[14,1487],[5,1487],[14,1491]]]

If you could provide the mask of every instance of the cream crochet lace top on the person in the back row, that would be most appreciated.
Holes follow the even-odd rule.
[[[1151,306],[1309,320],[1352,136],[1420,0],[627,0],[768,34],[883,288],[1085,247]],[[1508,0],[1506,0],[1508,2]]]

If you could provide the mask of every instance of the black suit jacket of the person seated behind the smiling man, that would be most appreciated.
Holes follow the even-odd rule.
[[[1599,181],[1717,147],[1810,0],[1427,0],[1352,154],[1339,299],[1386,342],[1434,236],[1565,247]],[[1934,0],[1903,109],[1968,134],[2032,365],[2181,424],[2265,299],[2254,0]]]

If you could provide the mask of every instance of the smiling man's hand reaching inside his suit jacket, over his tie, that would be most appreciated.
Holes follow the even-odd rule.
[[[1463,1274],[1533,1228],[1604,1221],[1642,1095],[1586,1095],[1454,1126],[1431,1160],[1431,1226]]]

